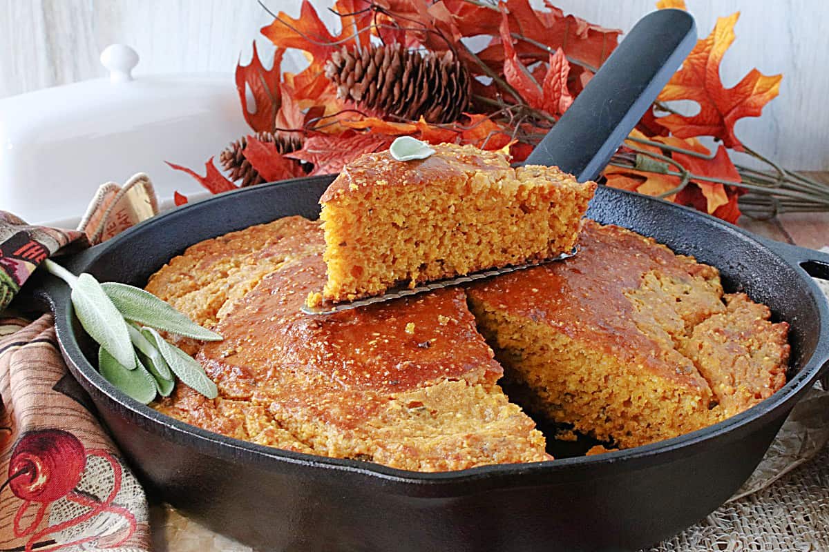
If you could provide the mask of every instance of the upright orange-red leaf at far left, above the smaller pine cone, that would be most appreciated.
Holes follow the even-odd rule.
[[[242,104],[242,114],[255,132],[270,132],[274,129],[274,116],[282,102],[279,94],[279,73],[284,50],[274,53],[274,65],[266,70],[259,60],[254,42],[254,55],[248,65],[236,65],[236,90]],[[247,90],[254,98],[255,111],[248,106]]]

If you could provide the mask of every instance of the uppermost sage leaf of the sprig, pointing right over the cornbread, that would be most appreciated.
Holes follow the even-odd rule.
[[[149,291],[119,282],[101,285],[125,319],[201,341],[219,341],[221,335],[202,328]]]

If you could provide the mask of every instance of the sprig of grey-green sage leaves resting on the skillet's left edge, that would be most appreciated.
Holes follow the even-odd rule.
[[[157,330],[201,341],[221,335],[138,287],[75,276],[50,259],[43,266],[70,286],[80,325],[100,345],[98,370],[108,382],[145,405],[157,395],[169,396],[176,378],[209,399],[218,396],[201,364]]]

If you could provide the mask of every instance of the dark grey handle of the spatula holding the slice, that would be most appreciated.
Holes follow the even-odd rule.
[[[695,43],[686,12],[642,17],[525,164],[559,166],[579,182],[596,178]]]

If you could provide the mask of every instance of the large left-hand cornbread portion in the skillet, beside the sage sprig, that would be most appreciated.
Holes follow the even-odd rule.
[[[507,401],[463,290],[312,317],[325,281],[318,223],[283,218],[190,247],[147,286],[221,342],[196,345],[219,388],[177,385],[158,410],[281,449],[445,471],[550,458]]]

